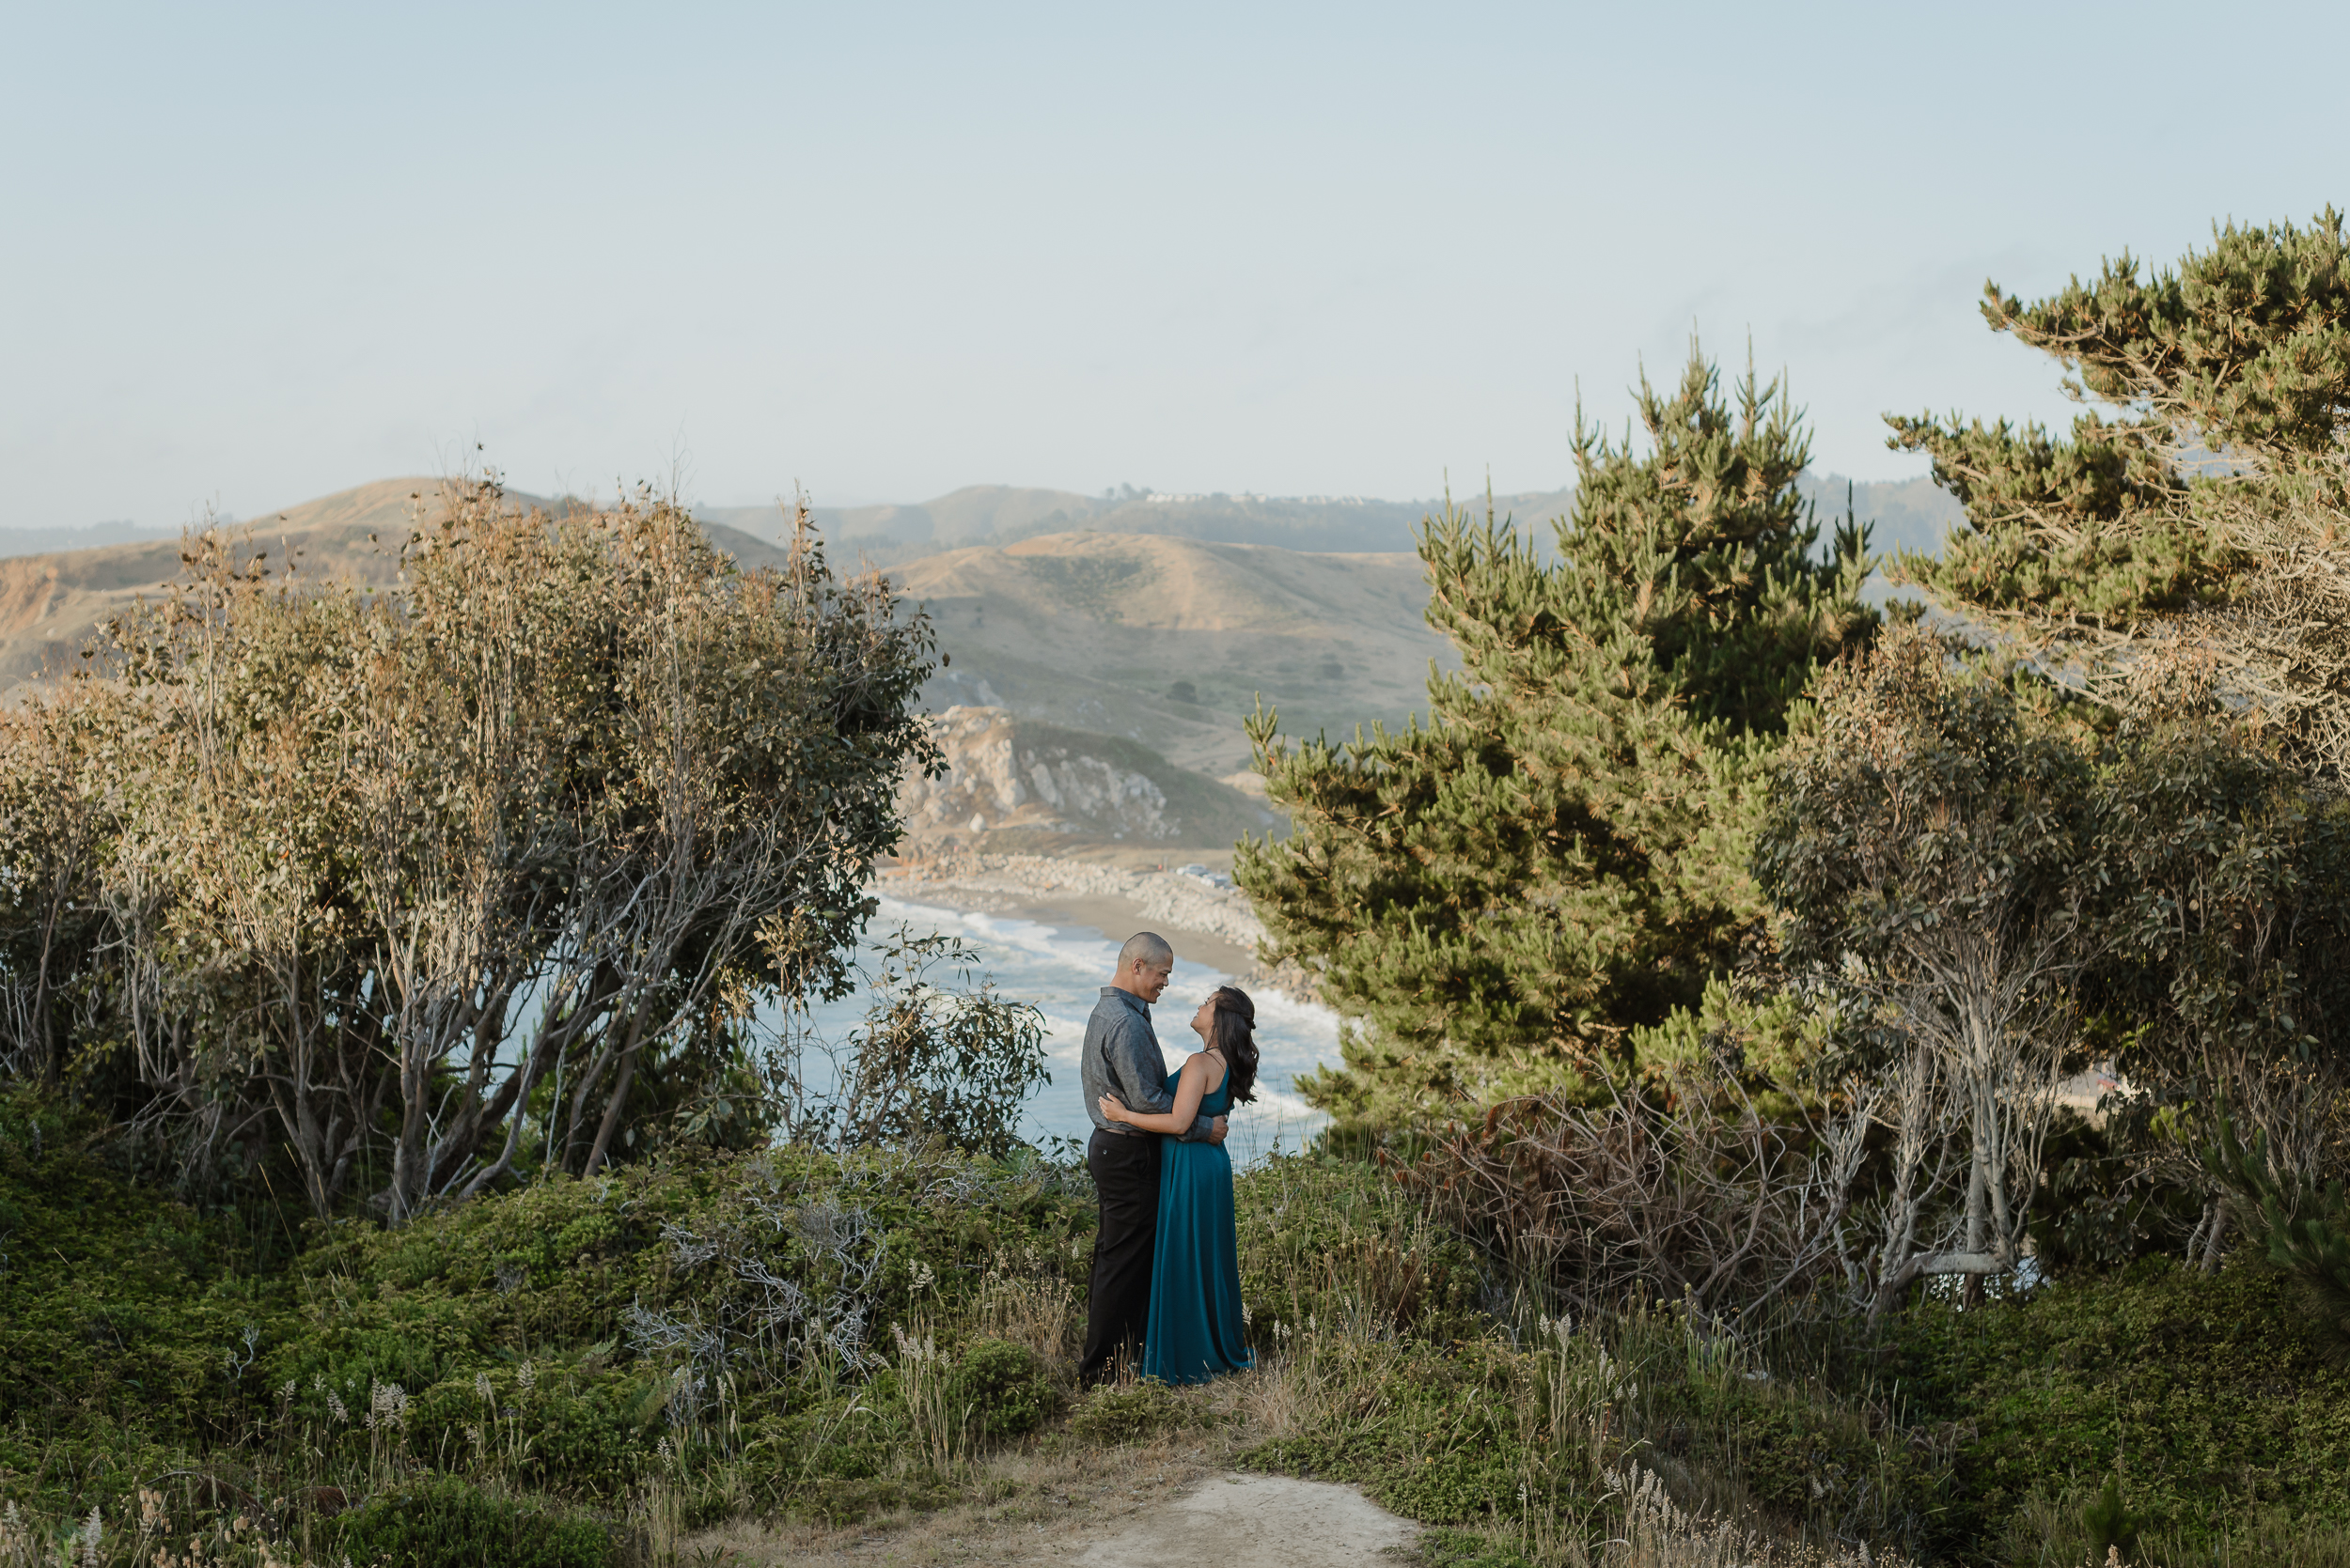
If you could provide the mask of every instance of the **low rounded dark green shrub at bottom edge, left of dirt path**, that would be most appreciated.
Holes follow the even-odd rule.
[[[611,1535],[585,1514],[486,1493],[458,1476],[400,1486],[334,1521],[352,1563],[388,1568],[609,1568]]]

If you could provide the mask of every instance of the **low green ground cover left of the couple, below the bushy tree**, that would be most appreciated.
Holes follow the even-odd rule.
[[[649,1488],[703,1516],[891,1507],[926,1481],[895,1460],[888,1324],[985,1324],[999,1275],[1081,1282],[1093,1223],[1034,1157],[679,1150],[400,1230],[315,1225],[287,1261],[125,1181],[92,1127],[0,1106],[0,1493],[49,1516],[134,1514],[190,1467],[256,1498],[425,1488],[383,1530]],[[1069,1366],[971,1333],[973,1432],[1046,1420]],[[334,1519],[294,1523],[324,1554]]]

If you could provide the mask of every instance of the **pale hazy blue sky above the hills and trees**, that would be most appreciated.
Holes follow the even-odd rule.
[[[0,526],[486,446],[707,502],[1570,474],[1574,387],[2063,413],[1983,277],[2350,200],[2338,5],[14,5]]]

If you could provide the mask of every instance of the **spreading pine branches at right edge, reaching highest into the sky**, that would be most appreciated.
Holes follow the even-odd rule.
[[[2089,408],[2070,437],[1894,418],[1967,507],[1899,580],[2122,709],[2200,697],[2258,711],[2303,765],[2350,782],[2350,254],[2343,216],[2228,225],[2209,251],[2026,305],[1993,331],[2059,359]]]

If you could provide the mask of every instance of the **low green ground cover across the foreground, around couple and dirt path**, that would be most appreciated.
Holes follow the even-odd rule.
[[[1730,1338],[1560,1314],[1375,1167],[1238,1204],[1262,1368],[1079,1397],[1093,1204],[1034,1157],[644,1162],[381,1230],[176,1207],[12,1099],[0,1561],[691,1561],[1168,1430],[1358,1481],[1434,1563],[2077,1563],[2108,1476],[2127,1561],[2341,1561],[2350,1383],[2254,1261]]]

